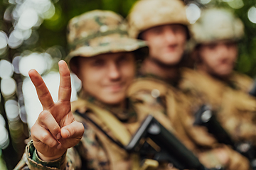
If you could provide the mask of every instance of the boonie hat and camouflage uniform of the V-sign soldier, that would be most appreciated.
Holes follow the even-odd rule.
[[[68,42],[71,47],[67,57],[68,62],[72,62],[73,57],[76,56],[93,57],[107,52],[144,50],[142,47],[146,47],[142,40],[128,38],[122,17],[111,11],[97,10],[82,14],[73,18],[68,28]],[[172,128],[169,120],[158,108],[146,108],[142,103],[131,101],[129,98],[126,104],[125,109],[107,106],[93,96],[81,92],[78,101],[71,105],[73,112],[82,113],[82,115],[76,113],[74,115],[75,119],[85,127],[78,145],[68,149],[63,157],[53,162],[43,162],[31,141],[26,147],[23,159],[15,169],[139,169],[138,155],[127,153],[112,140],[122,144],[129,142],[149,111],[159,113],[157,119],[168,130]],[[107,115],[108,120],[100,115]],[[111,123],[118,124],[119,127],[114,127],[113,130],[109,125]],[[122,134],[115,135],[117,131]],[[172,167],[168,164],[159,164],[158,169],[172,169]]]

